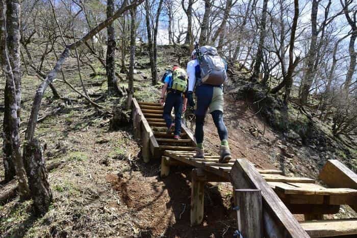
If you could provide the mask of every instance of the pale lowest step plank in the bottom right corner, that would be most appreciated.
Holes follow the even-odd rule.
[[[311,237],[357,234],[357,219],[303,221],[300,224]]]

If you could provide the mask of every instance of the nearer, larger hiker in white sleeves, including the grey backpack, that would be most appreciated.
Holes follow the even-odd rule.
[[[231,160],[231,151],[228,146],[228,131],[223,122],[223,83],[227,78],[226,64],[217,54],[217,49],[212,46],[202,46],[191,54],[191,61],[187,64],[188,91],[187,99],[195,109],[197,142],[196,158],[205,157],[203,148],[203,123],[207,110],[212,115],[221,140],[219,163],[228,163]],[[195,94],[196,104],[193,100]]]

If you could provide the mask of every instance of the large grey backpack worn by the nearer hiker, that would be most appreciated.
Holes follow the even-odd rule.
[[[201,83],[220,86],[227,78],[225,64],[213,46],[202,46],[200,51]]]

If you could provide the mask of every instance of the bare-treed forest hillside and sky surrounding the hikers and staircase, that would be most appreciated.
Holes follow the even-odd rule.
[[[158,102],[195,44],[227,62],[235,158],[312,178],[330,158],[357,171],[353,0],[0,1],[2,237],[229,236],[230,185],[205,195],[221,223],[185,231],[187,175],[158,178],[131,126],[132,99]],[[194,131],[192,111],[184,120]]]

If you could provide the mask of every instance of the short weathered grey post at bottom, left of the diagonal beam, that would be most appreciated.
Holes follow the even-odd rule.
[[[263,237],[262,193],[259,189],[236,189],[238,229],[244,238]]]

